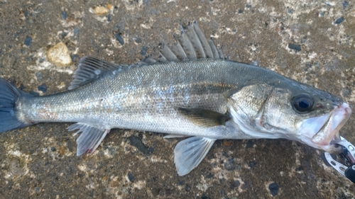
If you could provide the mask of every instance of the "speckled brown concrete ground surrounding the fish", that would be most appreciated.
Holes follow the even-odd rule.
[[[0,76],[26,92],[65,91],[81,57],[130,64],[173,42],[196,20],[231,60],[268,69],[355,102],[355,2],[0,2]],[[98,16],[95,6],[108,8]],[[64,42],[73,64],[45,52]],[[355,116],[341,133],[355,143]],[[322,151],[288,140],[219,140],[200,166],[178,176],[181,139],[112,130],[91,157],[76,156],[68,123],[0,135],[0,198],[354,198],[354,183]]]

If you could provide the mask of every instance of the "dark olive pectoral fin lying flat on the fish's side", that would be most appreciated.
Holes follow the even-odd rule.
[[[224,125],[230,119],[228,115],[202,108],[177,107],[176,110],[189,119],[192,123],[202,127]]]

